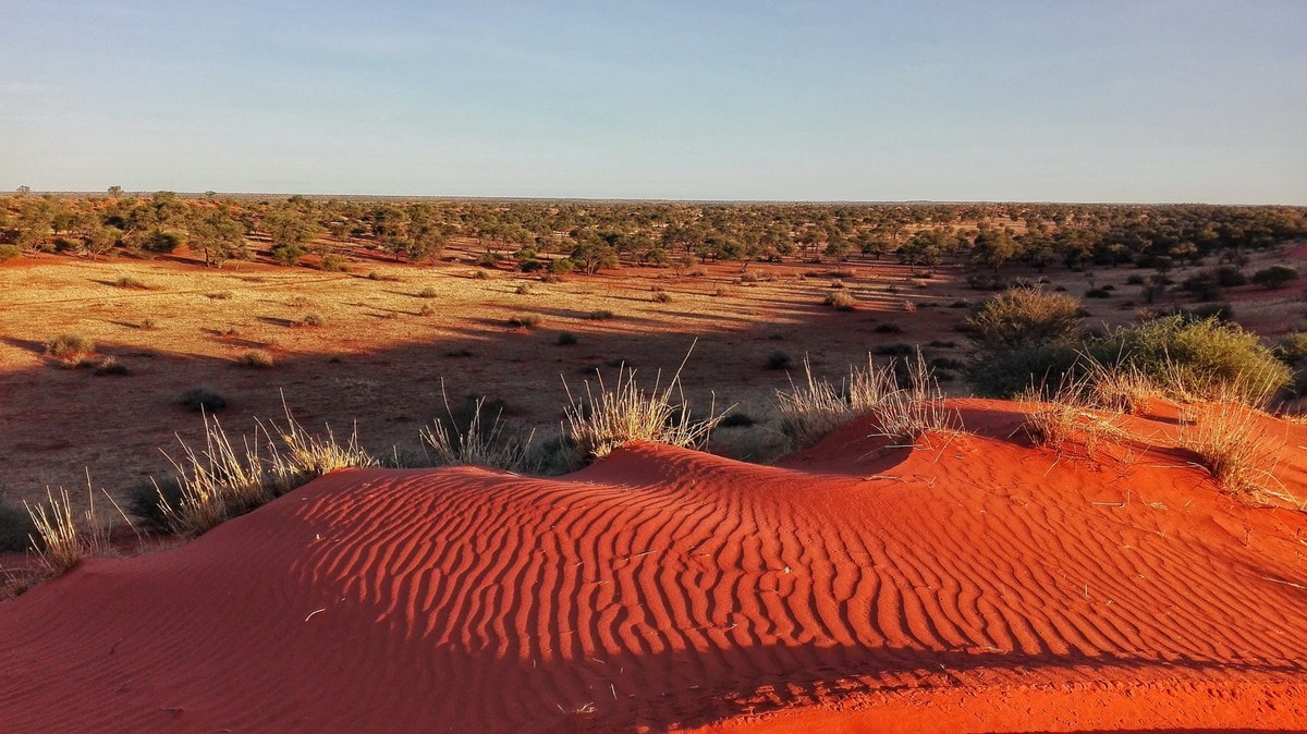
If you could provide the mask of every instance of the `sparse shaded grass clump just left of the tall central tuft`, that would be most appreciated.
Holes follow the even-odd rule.
[[[450,409],[443,385],[440,396],[444,398],[446,419],[431,422],[421,432],[422,441],[431,449],[429,458],[437,466],[490,466],[508,471],[523,469],[532,434],[523,436],[508,430],[502,421],[503,407],[495,410],[494,418],[488,421],[490,407],[486,398],[480,397],[472,401],[467,418],[460,419]]]

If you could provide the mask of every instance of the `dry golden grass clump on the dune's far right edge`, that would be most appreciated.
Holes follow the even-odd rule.
[[[1218,401],[1197,411],[1180,426],[1179,445],[1199,456],[1199,462],[1221,488],[1252,504],[1287,503],[1302,508],[1274,474],[1263,468],[1260,457],[1283,447],[1269,444],[1259,413],[1238,400]]]

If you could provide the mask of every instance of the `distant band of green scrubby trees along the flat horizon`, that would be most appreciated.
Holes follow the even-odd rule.
[[[895,259],[963,264],[1136,265],[1165,272],[1307,236],[1307,208],[1082,204],[701,204],[639,201],[183,199],[171,192],[0,199],[0,247],[152,257],[186,247],[208,265],[264,256],[341,263],[342,247],[396,261],[438,259],[451,238],[482,263],[596,273],[620,264]]]

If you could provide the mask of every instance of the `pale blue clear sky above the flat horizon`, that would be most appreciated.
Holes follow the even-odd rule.
[[[1299,0],[0,18],[0,189],[1307,204]]]

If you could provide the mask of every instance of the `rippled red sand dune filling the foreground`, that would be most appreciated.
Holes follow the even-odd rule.
[[[0,605],[3,729],[1307,726],[1303,515],[1218,494],[1165,418],[1086,462],[955,406],[929,451],[850,426],[782,468],[336,473]]]

